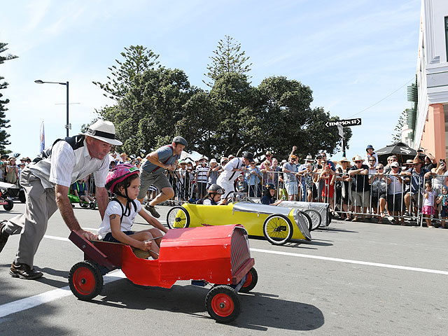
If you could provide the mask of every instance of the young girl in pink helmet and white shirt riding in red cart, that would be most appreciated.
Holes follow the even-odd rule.
[[[167,232],[157,219],[149,215],[137,202],[140,178],[139,169],[133,165],[118,165],[107,174],[106,188],[116,195],[109,202],[104,219],[99,226],[99,239],[128,244],[134,248],[148,251],[158,258],[162,232]],[[131,230],[134,219],[139,214],[154,228],[134,232]],[[155,243],[153,243],[155,241]]]

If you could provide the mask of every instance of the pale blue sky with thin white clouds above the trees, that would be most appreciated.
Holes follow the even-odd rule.
[[[144,45],[160,64],[183,69],[191,84],[206,89],[209,57],[228,34],[251,57],[253,85],[269,76],[300,80],[313,90],[311,106],[362,118],[352,127],[347,156],[364,155],[367,144],[379,149],[392,142],[410,106],[406,86],[416,73],[420,8],[419,0],[2,3],[0,41],[19,56],[0,66],[10,84],[2,90],[10,99],[8,149],[36,155],[42,121],[47,146],[65,136],[65,86],[34,80],[69,81],[69,100],[79,103],[69,108],[70,134],[78,134],[95,109],[113,104],[92,80],[106,82],[123,48]]]

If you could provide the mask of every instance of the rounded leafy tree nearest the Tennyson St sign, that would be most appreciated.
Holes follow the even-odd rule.
[[[262,80],[258,90],[263,107],[259,118],[262,139],[255,148],[258,156],[271,150],[279,158],[286,158],[294,145],[300,159],[318,151],[332,154],[339,150],[337,128],[325,127],[325,123],[338,118],[330,117],[322,107],[310,108],[313,98],[308,86],[283,76],[272,76]],[[351,130],[347,127],[345,132],[348,141]]]

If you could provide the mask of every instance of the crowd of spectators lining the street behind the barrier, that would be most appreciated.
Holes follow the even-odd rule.
[[[351,160],[327,159],[325,152],[311,155],[298,162],[293,146],[288,158],[274,158],[271,151],[261,160],[251,160],[234,183],[234,190],[260,199],[267,183],[275,187],[274,197],[279,200],[328,202],[333,213],[337,212],[346,221],[369,220],[376,217],[382,223],[384,217],[395,223],[405,224],[405,218],[416,218],[418,214],[428,218],[441,217],[442,226],[448,217],[448,170],[445,158],[436,160],[427,151],[422,151],[413,160],[398,162],[395,155],[387,158],[384,166],[379,162],[372,145],[366,147],[365,157],[355,155]],[[233,155],[219,162],[202,157],[198,160],[181,160],[169,179],[178,202],[197,200],[207,195],[207,188],[216,184],[223,167]],[[286,160],[287,159],[287,160]],[[2,155],[0,181],[18,184],[20,172],[31,163],[29,158]],[[137,167],[143,163],[140,157],[130,158],[126,153],[110,154],[110,169],[123,163]],[[430,188],[428,183],[430,182]],[[91,181],[86,179],[90,184]],[[157,188],[151,186],[148,198],[155,197]],[[444,211],[444,209],[446,211]],[[432,221],[427,225],[433,227]]]

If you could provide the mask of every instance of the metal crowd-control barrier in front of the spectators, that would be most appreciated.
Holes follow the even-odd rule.
[[[174,198],[166,201],[167,204],[182,204],[199,198],[195,171],[179,169],[165,174],[169,174],[174,189]],[[363,176],[367,182],[359,186],[356,183],[362,179],[349,176],[349,169],[343,173],[302,172],[300,176],[286,174],[293,173],[283,173],[281,170],[262,173],[260,183],[248,185],[245,192],[251,198],[260,199],[262,186],[273,183],[276,186],[276,197],[279,199],[329,203],[331,211],[341,217],[377,217],[379,221],[387,217],[389,220],[393,218],[392,221],[417,221],[421,226],[425,219],[421,209],[426,181],[435,181],[433,190],[437,197],[448,177],[433,175],[426,179],[415,173],[408,175],[408,172],[367,174]],[[294,194],[288,195],[288,189],[293,190]],[[151,200],[149,193],[148,200]],[[429,221],[443,221],[439,214],[440,211],[436,211],[434,215],[428,216]]]

